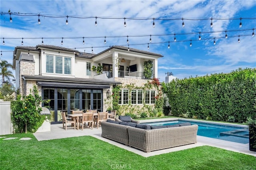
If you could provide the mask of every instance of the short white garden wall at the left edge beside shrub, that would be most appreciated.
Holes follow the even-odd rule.
[[[0,101],[0,135],[12,134],[11,102]]]

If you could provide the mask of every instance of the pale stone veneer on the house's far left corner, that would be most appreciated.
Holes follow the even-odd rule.
[[[35,62],[31,61],[20,61],[20,94],[28,95],[30,93],[30,84],[26,80],[22,79],[22,75],[35,75]],[[34,81],[34,84],[36,82]],[[29,85],[29,87],[27,87]],[[33,85],[32,85],[33,88]]]

